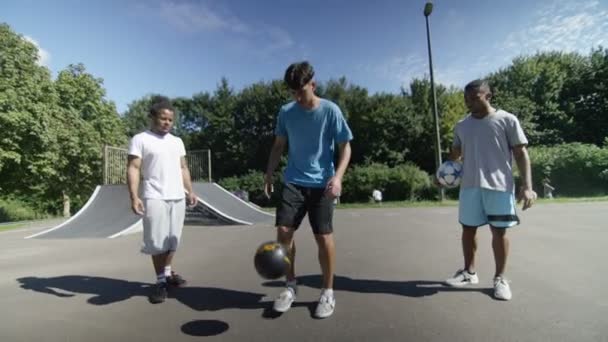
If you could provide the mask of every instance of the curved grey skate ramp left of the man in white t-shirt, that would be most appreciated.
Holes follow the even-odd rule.
[[[26,239],[114,238],[141,231],[141,217],[131,211],[129,198],[126,185],[98,186],[69,220]]]

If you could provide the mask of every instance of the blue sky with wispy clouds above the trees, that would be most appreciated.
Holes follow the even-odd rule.
[[[149,93],[213,92],[282,78],[307,59],[317,79],[346,76],[397,93],[428,75],[425,0],[2,0],[0,22],[34,41],[53,75],[84,63],[120,112]],[[435,79],[445,85],[536,51],[608,46],[605,0],[437,0]]]

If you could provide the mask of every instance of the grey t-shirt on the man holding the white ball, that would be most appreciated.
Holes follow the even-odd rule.
[[[454,147],[462,151],[461,188],[514,191],[512,149],[528,144],[519,120],[504,110],[482,119],[467,115],[454,128]]]

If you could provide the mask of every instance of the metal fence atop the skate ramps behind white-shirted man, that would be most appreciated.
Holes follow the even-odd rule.
[[[103,184],[127,184],[125,148],[104,146]],[[211,182],[211,150],[186,151],[186,161],[193,182]]]

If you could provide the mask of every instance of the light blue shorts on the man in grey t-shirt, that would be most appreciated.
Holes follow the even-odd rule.
[[[486,224],[496,228],[513,227],[519,224],[515,196],[505,191],[460,188],[458,220],[470,227]]]

